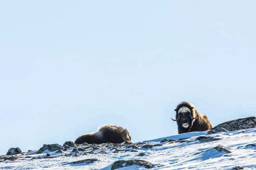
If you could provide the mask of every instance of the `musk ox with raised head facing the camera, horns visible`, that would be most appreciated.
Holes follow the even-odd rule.
[[[176,120],[172,120],[177,122],[179,134],[212,129],[207,116],[199,114],[195,106],[189,102],[181,102],[175,111]]]

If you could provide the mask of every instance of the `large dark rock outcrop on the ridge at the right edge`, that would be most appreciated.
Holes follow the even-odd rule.
[[[253,116],[224,122],[213,127],[212,130],[215,130],[217,127],[222,127],[228,131],[254,128],[256,127],[256,117]]]

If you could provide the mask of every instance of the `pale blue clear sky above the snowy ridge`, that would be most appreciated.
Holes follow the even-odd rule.
[[[175,106],[213,126],[256,115],[256,1],[0,2],[0,155],[102,124],[177,134]]]

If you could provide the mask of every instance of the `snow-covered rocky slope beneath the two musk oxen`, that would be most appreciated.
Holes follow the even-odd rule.
[[[219,151],[221,147],[214,149],[218,145],[229,150]],[[2,156],[0,169],[111,170],[115,161],[131,159],[149,161],[154,166],[151,169],[256,169],[256,128],[211,135],[207,135],[207,131],[184,133],[134,144],[81,144],[77,148],[80,150],[77,153],[76,149],[70,148],[63,153],[50,152],[48,157],[47,151],[41,154],[35,154],[37,151],[19,154],[14,161],[4,161]],[[38,156],[42,159],[38,159]],[[80,160],[85,163],[76,164],[75,161]],[[128,163],[122,163],[123,167],[119,170],[146,169],[143,165],[125,165]]]

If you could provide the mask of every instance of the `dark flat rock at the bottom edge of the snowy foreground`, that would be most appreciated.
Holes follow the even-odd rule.
[[[139,165],[139,166],[144,166],[145,168],[152,168],[154,167],[154,164],[151,164],[148,161],[143,161],[143,160],[122,160],[122,161],[115,161],[113,165],[111,166],[111,170],[117,169],[119,167],[124,167],[123,164],[125,163],[125,167],[128,167],[130,165]]]

